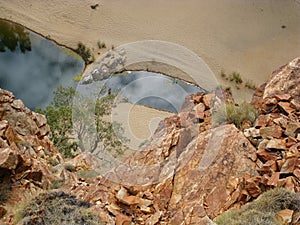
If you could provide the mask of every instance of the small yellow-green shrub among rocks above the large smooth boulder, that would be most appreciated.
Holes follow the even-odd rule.
[[[237,128],[241,129],[243,121],[248,120],[254,123],[257,116],[258,111],[247,102],[243,102],[240,105],[229,103],[213,113],[213,121],[216,124],[233,123]]]

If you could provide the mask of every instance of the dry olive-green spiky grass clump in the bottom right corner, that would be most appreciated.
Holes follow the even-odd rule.
[[[215,219],[218,225],[277,225],[275,214],[283,209],[300,210],[299,194],[284,188],[275,188],[263,193],[257,200],[229,210]]]

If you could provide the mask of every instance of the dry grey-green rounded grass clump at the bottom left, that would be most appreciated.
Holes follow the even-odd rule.
[[[90,212],[91,206],[64,192],[42,193],[21,207],[15,220],[24,225],[104,224]]]

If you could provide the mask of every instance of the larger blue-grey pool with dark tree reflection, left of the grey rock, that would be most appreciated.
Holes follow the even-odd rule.
[[[57,86],[76,86],[84,62],[31,31],[0,19],[0,87],[30,109],[44,108]]]

